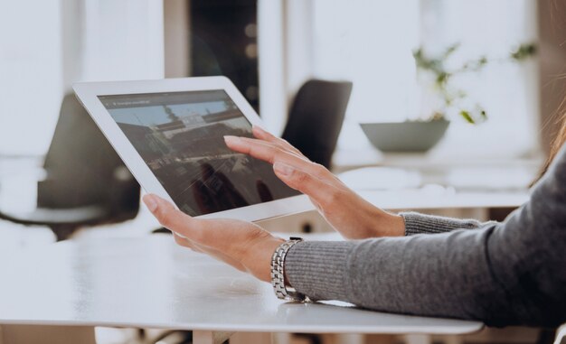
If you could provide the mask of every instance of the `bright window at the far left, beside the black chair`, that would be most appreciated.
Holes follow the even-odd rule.
[[[0,3],[0,154],[47,150],[61,104],[61,52],[59,1]]]

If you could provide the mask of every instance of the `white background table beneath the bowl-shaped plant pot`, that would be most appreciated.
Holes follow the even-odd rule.
[[[515,208],[529,200],[533,166],[366,167],[341,173],[344,183],[382,209]]]

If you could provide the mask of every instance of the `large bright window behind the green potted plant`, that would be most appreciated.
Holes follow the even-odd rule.
[[[470,126],[459,117],[433,154],[522,156],[537,149],[538,99],[533,60],[505,62],[512,49],[535,40],[529,0],[314,0],[313,74],[350,79],[354,91],[339,140],[341,149],[370,146],[360,122],[403,121],[422,115],[412,51],[441,51],[459,42],[453,62],[486,55],[480,73],[454,79],[489,119]]]

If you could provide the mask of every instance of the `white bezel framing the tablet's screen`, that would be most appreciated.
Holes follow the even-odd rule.
[[[261,119],[253,107],[243,98],[240,91],[225,77],[199,77],[182,79],[159,79],[137,81],[109,81],[84,82],[73,85],[75,94],[90,116],[99,126],[102,133],[112,144],[127,168],[137,179],[139,184],[149,193],[171,199],[165,188],[155,174],[149,169],[137,150],[129,142],[126,135],[112,119],[106,107],[102,105],[99,96],[128,95],[140,93],[164,93],[222,89],[234,101],[241,113],[246,116],[252,125],[262,126]],[[176,205],[175,205],[176,206]],[[178,207],[177,207],[178,208]],[[280,200],[271,200],[265,203],[254,204],[237,209],[223,210],[197,218],[239,218],[247,221],[258,221],[266,218],[279,217],[314,209],[313,204],[305,195],[297,195]]]

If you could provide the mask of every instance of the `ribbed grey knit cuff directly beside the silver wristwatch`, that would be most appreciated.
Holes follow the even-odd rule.
[[[354,247],[348,241],[303,241],[285,258],[288,282],[311,300],[345,300],[347,261]]]

